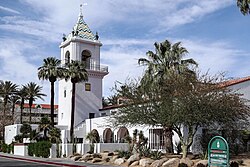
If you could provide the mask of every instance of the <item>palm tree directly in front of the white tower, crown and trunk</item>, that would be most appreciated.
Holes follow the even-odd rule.
[[[76,83],[87,81],[88,73],[85,69],[84,63],[72,60],[71,63],[67,64],[64,72],[65,80],[71,80],[72,83],[72,98],[71,98],[71,123],[70,123],[70,140],[74,140],[74,122],[75,122],[75,92]]]

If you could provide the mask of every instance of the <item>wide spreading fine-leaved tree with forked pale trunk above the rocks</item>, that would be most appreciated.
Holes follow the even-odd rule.
[[[175,74],[170,75],[161,89],[141,87],[139,83],[127,84],[130,103],[112,117],[116,125],[161,126],[163,130],[171,127],[180,138],[185,158],[199,127],[237,128],[247,125],[250,109],[246,100],[218,84],[219,78]],[[183,134],[183,127],[187,136]]]

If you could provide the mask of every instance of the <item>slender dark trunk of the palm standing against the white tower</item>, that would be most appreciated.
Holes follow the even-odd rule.
[[[76,83],[72,82],[71,123],[70,123],[70,142],[71,143],[73,143],[73,140],[74,140],[75,92],[76,92]]]

